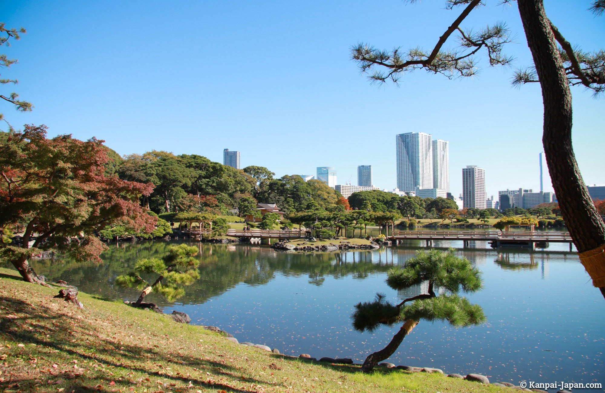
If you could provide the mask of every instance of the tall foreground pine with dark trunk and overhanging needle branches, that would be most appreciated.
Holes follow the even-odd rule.
[[[512,2],[502,0],[499,3]],[[603,15],[605,2],[592,0],[591,3],[589,10],[597,16]],[[584,7],[581,4],[569,2],[566,6]],[[427,70],[450,79],[474,76],[480,68],[476,58],[480,51],[485,51],[490,66],[509,65],[511,58],[503,54],[504,45],[511,42],[511,32],[506,24],[498,22],[476,31],[462,28],[464,19],[482,5],[482,0],[446,0],[446,8],[460,6],[463,10],[445,28],[431,50],[380,50],[358,44],[352,48],[352,58],[363,72],[370,73],[372,82],[397,82],[413,70]],[[575,159],[569,89],[570,86],[581,86],[592,91],[594,96],[605,91],[605,51],[583,51],[567,41],[546,15],[543,0],[517,0],[517,7],[534,64],[517,70],[512,83],[540,84],[544,106],[542,144],[552,187],[580,260],[593,285],[600,288],[605,297],[605,223],[590,199]],[[446,48],[446,42],[454,37],[459,45],[454,49]]]

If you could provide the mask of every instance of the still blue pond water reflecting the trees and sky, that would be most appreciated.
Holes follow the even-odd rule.
[[[81,291],[110,299],[135,300],[132,289],[114,279],[139,258],[162,256],[174,242],[120,243],[102,255],[104,263],[38,260],[34,268]],[[374,334],[353,331],[353,306],[376,292],[392,302],[420,288],[394,291],[385,285],[388,269],[424,249],[407,242],[376,251],[284,253],[261,245],[210,245],[200,248],[201,279],[186,296],[168,304],[155,294],[145,298],[165,312],[187,312],[192,323],[214,325],[240,342],[278,348],[290,355],[350,357],[361,363],[399,329]],[[483,273],[485,289],[469,296],[488,322],[473,328],[420,322],[388,360],[396,365],[443,369],[446,374],[477,372],[491,381],[605,384],[605,300],[593,288],[575,253],[566,244],[535,251],[491,249],[485,242],[434,242],[457,253]],[[550,389],[554,392],[556,389]],[[603,389],[584,389],[598,392]]]

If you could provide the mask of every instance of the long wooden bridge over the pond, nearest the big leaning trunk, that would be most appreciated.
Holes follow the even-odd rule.
[[[472,241],[494,242],[495,246],[534,246],[534,243],[569,243],[569,232],[503,232],[503,231],[395,231],[393,240],[425,240],[427,246],[433,240],[462,240],[464,246]]]

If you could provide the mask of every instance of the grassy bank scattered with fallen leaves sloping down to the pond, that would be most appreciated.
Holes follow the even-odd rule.
[[[0,389],[4,392],[498,392],[440,374],[315,365],[236,345],[199,326],[0,269]],[[326,354],[330,355],[330,354]]]

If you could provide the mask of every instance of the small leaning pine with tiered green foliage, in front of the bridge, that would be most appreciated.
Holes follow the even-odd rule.
[[[387,302],[385,295],[378,293],[372,302],[360,302],[355,306],[351,319],[356,331],[373,332],[381,325],[393,326],[403,322],[385,348],[365,358],[361,368],[363,372],[370,372],[379,362],[393,355],[420,320],[447,321],[456,327],[485,322],[481,306],[458,296],[459,292],[479,291],[482,288],[481,273],[467,259],[457,257],[451,250],[419,251],[416,257],[405,263],[404,268],[388,271],[386,281],[390,288],[396,290],[428,282],[428,293],[410,297],[397,305]]]

